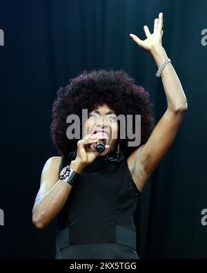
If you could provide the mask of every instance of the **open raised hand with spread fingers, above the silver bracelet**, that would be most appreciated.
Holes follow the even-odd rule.
[[[140,46],[144,48],[144,50],[151,52],[152,48],[157,46],[157,44],[161,44],[161,38],[163,35],[163,13],[159,13],[159,18],[155,19],[154,23],[154,32],[151,34],[148,26],[144,26],[144,32],[146,34],[146,39],[141,40],[134,34],[130,34],[130,37]]]

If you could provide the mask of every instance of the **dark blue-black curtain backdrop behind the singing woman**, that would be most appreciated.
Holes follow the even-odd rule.
[[[32,225],[32,207],[46,160],[57,156],[50,139],[57,89],[82,70],[119,70],[150,93],[156,122],[166,111],[154,59],[130,33],[146,39],[164,12],[163,46],[188,100],[175,141],[152,174],[137,207],[141,258],[207,258],[206,59],[201,30],[207,2],[181,0],[0,1],[1,62],[0,258],[55,258],[54,220]],[[173,90],[172,90],[173,92]]]

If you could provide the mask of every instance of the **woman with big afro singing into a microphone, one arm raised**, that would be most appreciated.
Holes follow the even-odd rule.
[[[59,88],[52,106],[51,137],[59,156],[49,158],[32,210],[42,229],[57,217],[55,258],[135,258],[134,223],[144,185],[170,148],[188,109],[186,96],[161,44],[163,14],[146,39],[132,39],[152,55],[166,93],[167,109],[155,126],[149,94],[124,70],[83,71]],[[87,109],[86,120],[81,120]],[[118,117],[124,117],[124,121]],[[141,139],[129,145],[128,128]],[[80,117],[79,138],[68,135],[68,117]],[[126,138],[121,138],[125,123]],[[70,130],[69,130],[70,131]],[[136,133],[135,133],[136,134]],[[98,149],[100,148],[100,149]],[[103,149],[103,150],[101,150]]]

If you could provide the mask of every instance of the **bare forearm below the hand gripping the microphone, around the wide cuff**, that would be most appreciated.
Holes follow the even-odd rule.
[[[83,166],[72,161],[70,167],[81,173]],[[41,198],[32,209],[32,222],[42,229],[46,227],[61,211],[73,186],[63,180],[58,180],[55,185]]]

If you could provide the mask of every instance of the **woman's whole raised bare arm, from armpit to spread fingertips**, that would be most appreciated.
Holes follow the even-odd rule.
[[[141,47],[147,50],[155,59],[157,68],[168,59],[164,47],[161,45],[163,35],[163,14],[159,13],[159,19],[155,19],[154,32],[151,34],[148,26],[144,26],[147,39],[142,41],[136,35],[130,35]],[[188,109],[188,104],[181,82],[175,69],[169,62],[161,72],[161,81],[166,93],[168,107],[161,117],[150,138],[135,150],[129,157],[132,162],[132,176],[138,189],[143,189],[147,179],[157,168],[159,162],[170,148],[179,125]]]

